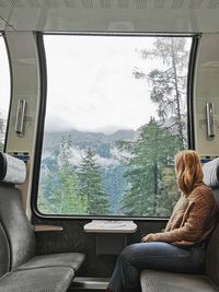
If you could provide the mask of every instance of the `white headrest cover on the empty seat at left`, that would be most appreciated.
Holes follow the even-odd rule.
[[[25,163],[9,154],[0,152],[0,182],[23,184],[26,178]]]

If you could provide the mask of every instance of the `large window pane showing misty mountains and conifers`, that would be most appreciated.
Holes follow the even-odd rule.
[[[164,217],[187,145],[191,36],[44,35],[44,214]]]

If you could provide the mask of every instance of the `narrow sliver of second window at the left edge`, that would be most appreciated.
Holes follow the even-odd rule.
[[[0,35],[0,151],[5,144],[5,130],[10,104],[10,70],[3,36]]]

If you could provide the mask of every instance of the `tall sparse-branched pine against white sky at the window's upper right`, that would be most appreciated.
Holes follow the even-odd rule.
[[[171,130],[177,136],[181,150],[186,145],[186,69],[188,51],[184,37],[157,37],[152,49],[143,49],[143,59],[160,59],[162,69],[151,70],[148,74],[137,69],[136,79],[147,78],[151,85],[151,101],[158,104],[158,115],[163,124],[172,121]]]

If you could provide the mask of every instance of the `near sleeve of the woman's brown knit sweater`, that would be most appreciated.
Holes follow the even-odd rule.
[[[150,240],[166,243],[198,242],[203,240],[204,234],[207,235],[210,232],[208,232],[208,225],[215,213],[215,207],[216,202],[211,192],[196,194],[195,199],[188,205],[183,225],[163,233],[151,234]]]

